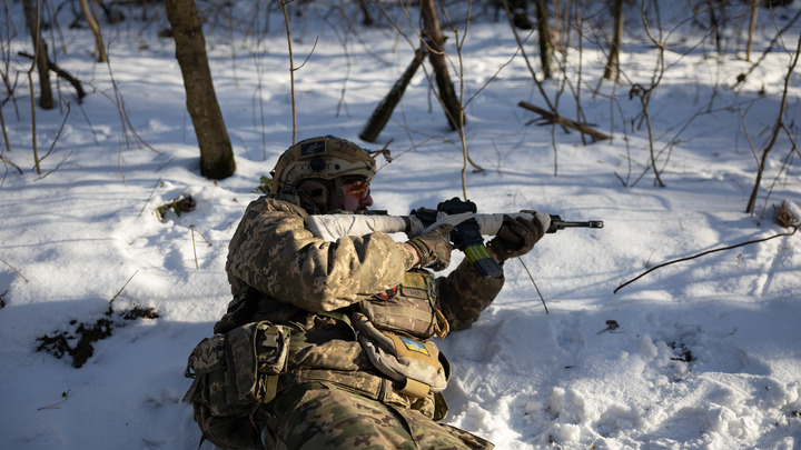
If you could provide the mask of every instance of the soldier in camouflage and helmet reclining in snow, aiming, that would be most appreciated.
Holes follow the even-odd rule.
[[[278,362],[256,383],[263,394],[249,422],[267,449],[491,449],[438,423],[449,367],[432,338],[469,327],[503,277],[483,279],[465,259],[435,278],[426,268],[447,268],[451,226],[406,242],[383,232],[325,242],[305,228],[309,214],[373,204],[375,157],[330,136],[290,147],[275,167],[271,193],[248,206],[230,241],[234,300],[215,333],[230,340],[233,330],[258,322],[266,334],[245,340],[279,342],[269,347],[267,360]],[[548,227],[547,216],[537,217],[506,220],[488,243],[493,257],[503,262],[530,251]],[[280,342],[286,351],[274,351]],[[248,359],[249,351],[228,354]]]

